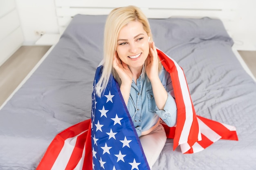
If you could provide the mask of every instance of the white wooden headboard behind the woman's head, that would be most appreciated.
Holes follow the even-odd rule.
[[[236,20],[238,0],[55,0],[60,33],[76,14],[108,15],[116,7],[135,5],[148,18],[219,18],[229,33]]]

